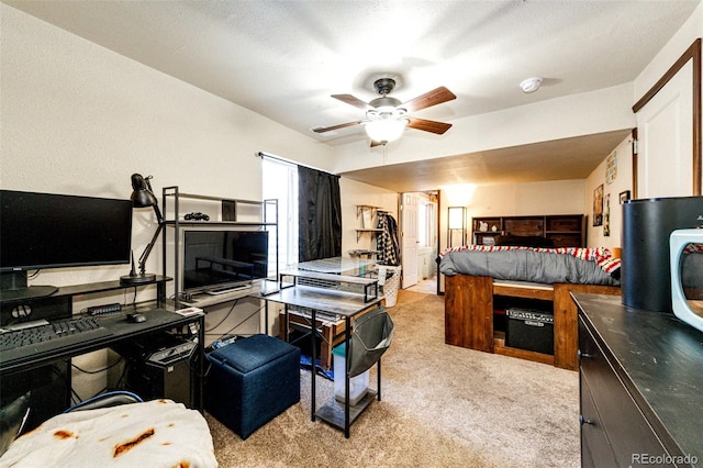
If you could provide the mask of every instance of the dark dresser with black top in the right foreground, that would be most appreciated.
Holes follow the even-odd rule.
[[[581,465],[703,466],[703,333],[620,297],[572,296]]]

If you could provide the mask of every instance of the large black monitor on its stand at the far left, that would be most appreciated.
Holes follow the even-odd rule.
[[[0,190],[0,296],[42,297],[27,271],[129,264],[132,202],[122,199]]]

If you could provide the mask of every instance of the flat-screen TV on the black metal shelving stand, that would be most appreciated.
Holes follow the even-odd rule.
[[[268,276],[267,231],[183,231],[183,291],[214,292]]]

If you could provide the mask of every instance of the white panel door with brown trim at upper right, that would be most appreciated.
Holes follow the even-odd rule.
[[[692,62],[637,112],[637,198],[693,194]]]

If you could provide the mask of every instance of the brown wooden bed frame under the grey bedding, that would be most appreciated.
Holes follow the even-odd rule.
[[[445,277],[445,343],[578,370],[578,310],[571,292],[620,296],[620,287],[494,282],[470,275]],[[493,330],[493,297],[540,299],[554,303],[554,355],[505,346]]]

